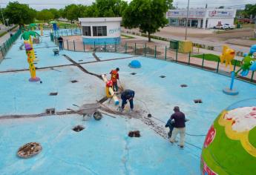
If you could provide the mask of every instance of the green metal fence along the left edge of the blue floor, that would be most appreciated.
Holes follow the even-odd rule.
[[[16,41],[16,39],[19,38],[20,34],[22,33],[22,30],[17,30],[16,33],[13,34],[13,36],[10,36],[9,39],[7,39],[6,42],[4,42],[3,44],[1,44],[0,46],[0,62],[4,59],[4,56],[6,56],[7,51],[10,50],[10,47],[12,46],[13,42]],[[8,33],[7,33],[8,35]]]

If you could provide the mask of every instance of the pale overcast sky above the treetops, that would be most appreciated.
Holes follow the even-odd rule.
[[[30,4],[30,7],[36,10],[42,10],[44,8],[62,8],[68,4],[91,4],[93,0],[15,0],[20,3]],[[128,2],[131,0],[127,0]],[[1,7],[5,7],[9,1],[1,0]],[[174,0],[174,7],[185,8],[188,0]],[[255,0],[190,0],[190,7],[234,7],[237,9],[243,8],[244,4],[256,4]]]

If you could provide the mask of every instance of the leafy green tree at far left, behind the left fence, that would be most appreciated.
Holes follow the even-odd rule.
[[[29,24],[34,21],[36,10],[28,7],[27,4],[19,4],[18,1],[9,2],[4,9],[4,17],[9,19],[9,24]]]

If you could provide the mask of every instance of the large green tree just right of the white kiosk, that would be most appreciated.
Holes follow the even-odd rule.
[[[170,3],[170,0],[133,0],[123,13],[123,25],[139,27],[142,33],[148,33],[148,42],[151,42],[151,33],[168,23],[165,14]]]

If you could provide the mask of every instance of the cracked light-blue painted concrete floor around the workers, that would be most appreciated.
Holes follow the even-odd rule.
[[[234,87],[239,95],[227,96],[222,89],[229,86],[229,77],[157,59],[96,53],[102,60],[96,62],[92,53],[67,50],[53,56],[56,46],[50,42],[50,31],[44,33],[42,42],[34,44],[39,59],[36,76],[42,83],[28,82],[21,40],[0,64],[0,174],[200,174],[204,135],[218,113],[234,102],[256,96],[255,85],[238,80]],[[134,117],[126,111],[125,115],[112,114],[116,118],[103,114],[99,121],[83,120],[76,113],[8,119],[45,113],[47,108],[77,110],[74,105],[95,103],[105,96],[104,82],[83,72],[63,54],[94,74],[108,74],[119,67],[122,87],[135,90],[134,110],[138,113]],[[140,69],[128,67],[134,59],[140,60]],[[180,87],[182,84],[188,87]],[[57,96],[49,96],[53,92]],[[195,104],[194,99],[203,103]],[[113,101],[104,105],[117,108]],[[168,142],[164,128],[176,105],[190,119],[183,150]],[[85,129],[77,133],[72,130],[76,125]],[[134,130],[140,131],[139,138],[128,136]],[[27,142],[39,142],[42,152],[30,159],[16,156]]]

